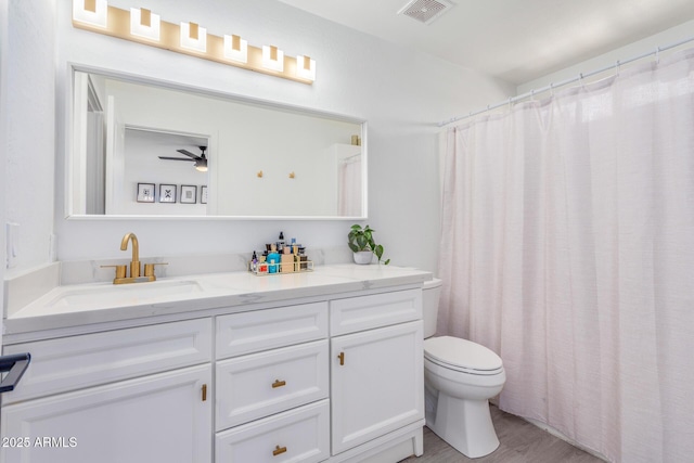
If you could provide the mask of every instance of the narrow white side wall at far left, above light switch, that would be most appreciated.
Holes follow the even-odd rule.
[[[50,260],[55,159],[55,2],[3,1],[4,139],[0,145],[5,222],[18,223],[16,267]],[[0,175],[2,171],[0,171]],[[2,240],[4,244],[4,240]]]

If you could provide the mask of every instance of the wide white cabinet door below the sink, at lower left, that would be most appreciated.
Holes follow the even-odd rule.
[[[209,462],[210,384],[207,364],[4,407],[0,462]]]

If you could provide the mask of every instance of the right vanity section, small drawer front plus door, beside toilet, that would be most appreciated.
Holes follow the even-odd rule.
[[[408,426],[421,433],[421,319],[419,290],[331,301],[333,455]],[[421,447],[404,437],[398,459],[421,454]]]

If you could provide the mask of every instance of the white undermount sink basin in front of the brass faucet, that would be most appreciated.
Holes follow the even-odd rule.
[[[168,298],[185,294],[200,293],[203,288],[196,281],[176,280],[152,283],[133,283],[123,285],[99,285],[65,290],[48,305],[51,307],[67,306],[124,306]]]

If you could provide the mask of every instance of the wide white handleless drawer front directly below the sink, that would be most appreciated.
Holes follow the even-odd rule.
[[[22,383],[4,404],[211,360],[209,319],[5,346],[30,352]]]

